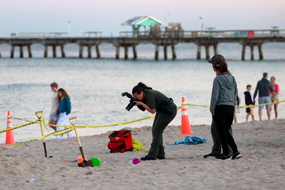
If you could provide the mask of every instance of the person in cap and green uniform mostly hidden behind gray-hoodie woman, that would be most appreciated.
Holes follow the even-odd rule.
[[[212,64],[213,68],[216,63],[220,63],[222,61],[225,61],[225,58],[224,56],[220,54],[214,55],[211,59],[208,60],[208,62]],[[229,69],[227,70],[226,74],[229,76],[232,76],[231,72],[229,72]],[[232,135],[232,127],[230,127],[229,129],[229,133]],[[210,154],[205,155],[204,158],[207,158],[208,156],[220,156],[222,154],[220,135],[219,135],[217,124],[213,117],[212,117],[212,124],[211,124],[211,134],[212,134],[213,143],[214,143],[212,152]],[[232,148],[230,146],[229,146],[229,155],[232,156]]]

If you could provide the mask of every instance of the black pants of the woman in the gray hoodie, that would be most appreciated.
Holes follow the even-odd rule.
[[[232,126],[234,119],[234,109],[234,106],[218,105],[215,108],[215,115],[213,116],[219,130],[221,146],[225,156],[229,155],[228,144],[232,148],[233,153],[238,150],[234,138],[229,133],[229,128]]]

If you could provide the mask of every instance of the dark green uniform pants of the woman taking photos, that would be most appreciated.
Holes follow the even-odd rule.
[[[151,148],[148,151],[148,157],[156,159],[157,156],[165,156],[164,146],[162,141],[162,133],[168,124],[175,118],[177,114],[177,106],[172,103],[170,106],[172,109],[172,115],[166,113],[156,112],[153,125],[152,125],[152,143]]]

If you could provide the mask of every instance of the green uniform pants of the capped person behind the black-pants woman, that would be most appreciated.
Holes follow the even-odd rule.
[[[212,125],[211,125],[211,134],[212,134],[212,138],[214,142],[214,145],[212,148],[212,154],[221,155],[222,148],[221,148],[220,135],[219,135],[217,124],[213,117],[212,117]],[[229,134],[232,135],[232,127],[229,128]],[[232,148],[230,146],[229,146],[229,155],[232,156]]]

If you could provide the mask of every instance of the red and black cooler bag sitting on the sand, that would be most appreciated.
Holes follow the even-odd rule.
[[[109,135],[109,138],[108,148],[110,153],[134,150],[131,131],[115,131]]]

